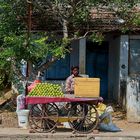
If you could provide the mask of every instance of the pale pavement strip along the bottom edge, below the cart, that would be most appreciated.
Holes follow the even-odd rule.
[[[28,129],[0,128],[0,140],[140,140],[140,130],[131,132],[99,132],[99,134],[72,134],[71,131],[56,133],[29,133]]]

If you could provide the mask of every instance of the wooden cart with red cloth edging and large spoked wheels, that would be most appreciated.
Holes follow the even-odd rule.
[[[29,124],[36,132],[54,131],[62,122],[68,122],[77,133],[90,133],[97,127],[99,117],[95,106],[103,101],[101,97],[65,97],[58,96],[58,93],[58,97],[42,95],[26,96],[26,104],[30,107]]]

